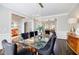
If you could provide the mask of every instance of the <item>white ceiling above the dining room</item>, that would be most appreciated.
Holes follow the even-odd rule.
[[[3,6],[27,16],[50,16],[62,13],[69,13],[77,3],[42,3],[41,8],[38,3],[4,3]]]

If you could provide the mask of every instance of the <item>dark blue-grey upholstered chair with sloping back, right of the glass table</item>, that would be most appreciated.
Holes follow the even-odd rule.
[[[41,55],[55,54],[54,53],[55,41],[56,41],[56,34],[53,33],[49,38],[49,41],[47,42],[45,47],[38,49],[38,54],[41,54]]]

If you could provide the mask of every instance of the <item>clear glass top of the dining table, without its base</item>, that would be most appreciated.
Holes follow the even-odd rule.
[[[33,47],[35,49],[43,48],[48,41],[48,38],[36,36],[32,39],[20,40],[18,43],[22,44],[23,47]]]

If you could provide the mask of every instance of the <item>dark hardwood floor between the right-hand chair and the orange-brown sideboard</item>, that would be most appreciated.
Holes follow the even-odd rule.
[[[75,53],[67,46],[65,39],[57,39],[54,47],[55,55],[75,55]]]

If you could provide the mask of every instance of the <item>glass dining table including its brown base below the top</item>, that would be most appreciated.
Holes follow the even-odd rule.
[[[20,39],[17,42],[17,51],[20,51],[22,48],[26,48],[28,51],[31,51],[34,55],[37,54],[37,50],[43,48],[48,42],[48,38],[36,36],[30,39]]]

